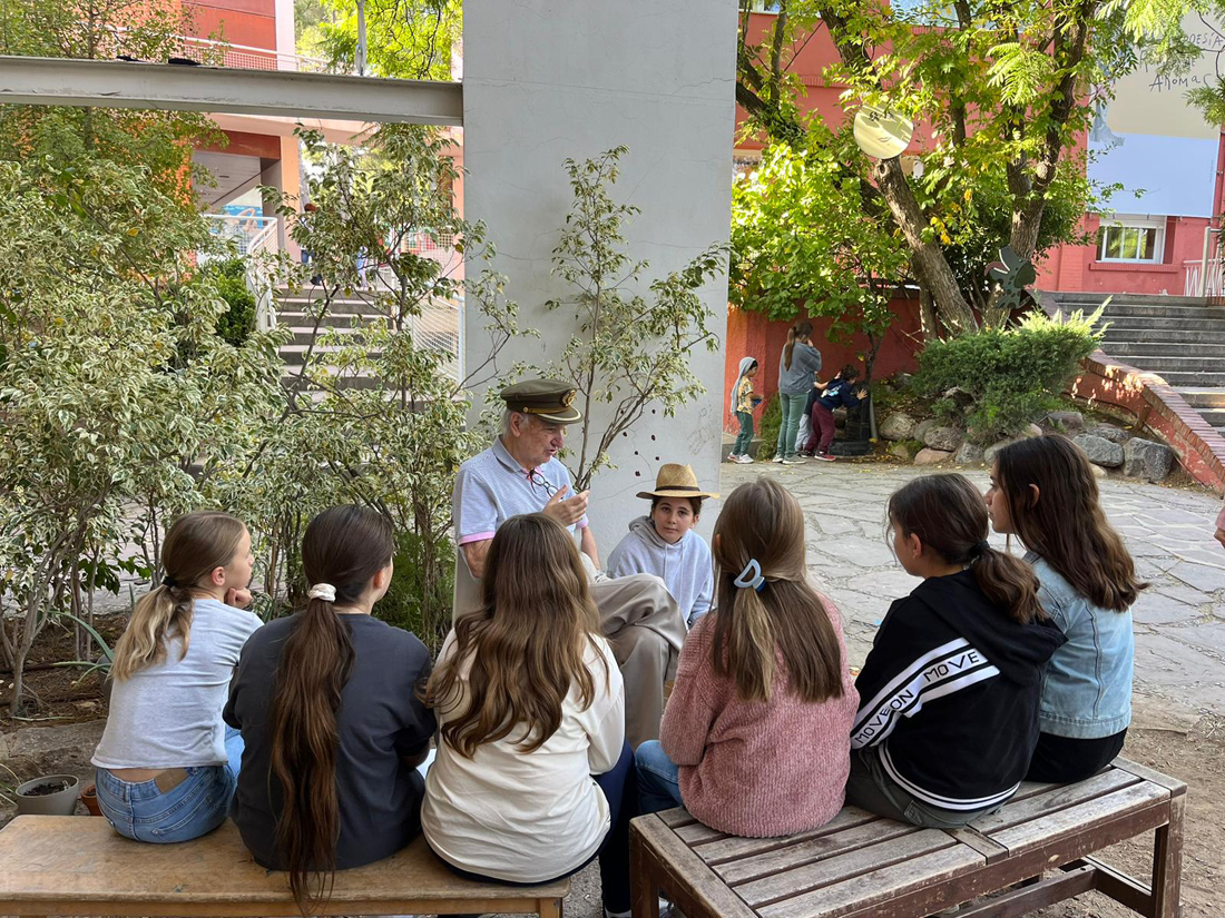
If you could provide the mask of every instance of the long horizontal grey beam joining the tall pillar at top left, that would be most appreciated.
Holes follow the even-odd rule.
[[[0,104],[463,125],[461,83],[0,55]]]

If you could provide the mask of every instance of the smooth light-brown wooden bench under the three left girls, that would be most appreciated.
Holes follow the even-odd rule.
[[[505,886],[456,876],[418,838],[336,874],[317,914],[537,913],[561,918],[570,880]],[[298,916],[283,873],[265,870],[227,821],[180,845],[142,845],[104,819],[17,816],[0,831],[0,914]]]

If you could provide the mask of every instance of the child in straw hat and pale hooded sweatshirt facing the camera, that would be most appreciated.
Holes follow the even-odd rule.
[[[688,465],[668,463],[655,476],[654,491],[639,491],[650,501],[650,515],[630,524],[630,534],[609,556],[610,577],[654,574],[668,586],[690,628],[710,608],[714,567],[710,548],[692,528],[702,501],[718,498],[702,491]]]

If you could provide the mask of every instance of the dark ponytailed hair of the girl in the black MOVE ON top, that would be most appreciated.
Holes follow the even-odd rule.
[[[889,523],[904,536],[919,536],[949,564],[969,564],[982,594],[1013,621],[1029,624],[1047,617],[1034,569],[987,543],[986,502],[964,475],[926,475],[898,488],[889,498]]]

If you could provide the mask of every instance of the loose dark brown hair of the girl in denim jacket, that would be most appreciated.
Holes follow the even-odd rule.
[[[1072,589],[1101,608],[1126,612],[1148,584],[1122,536],[1106,521],[1088,457],[1067,437],[1012,443],[996,455],[996,485],[1012,529]],[[1033,499],[1031,485],[1038,486]]]

